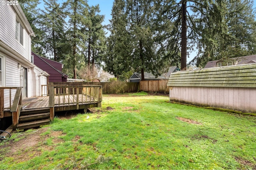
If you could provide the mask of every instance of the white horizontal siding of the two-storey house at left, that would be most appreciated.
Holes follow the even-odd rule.
[[[7,4],[7,0],[1,0],[2,4]],[[4,57],[4,87],[20,87],[20,67],[27,68],[27,92],[28,97],[36,96],[34,90],[35,81],[33,80],[33,67],[31,62],[31,37],[32,30],[28,22],[24,21],[24,14],[20,12],[19,6],[7,6],[0,4],[0,54]],[[17,12],[17,14],[16,14]],[[23,16],[19,18],[19,16]],[[23,27],[23,45],[16,40],[16,19]],[[23,23],[24,21],[24,23]],[[28,28],[28,29],[26,29]],[[32,33],[33,34],[33,33]],[[16,90],[4,90],[4,107],[9,107],[10,101],[14,99]]]

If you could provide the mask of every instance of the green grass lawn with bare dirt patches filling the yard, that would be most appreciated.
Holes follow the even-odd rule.
[[[255,116],[141,95],[104,95],[94,113],[14,133],[0,143],[0,169],[256,169]]]

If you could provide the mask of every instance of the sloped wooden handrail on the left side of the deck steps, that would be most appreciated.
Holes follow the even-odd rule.
[[[22,87],[18,87],[12,104],[12,128],[16,129],[19,124],[20,110],[22,109]]]

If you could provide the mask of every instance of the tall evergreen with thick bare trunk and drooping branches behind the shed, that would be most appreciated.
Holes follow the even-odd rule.
[[[173,41],[178,41],[180,43],[181,50],[181,70],[186,70],[186,59],[188,56],[187,50],[193,50],[195,42],[200,41],[200,38],[204,38],[202,31],[200,30],[204,27],[205,30],[210,32],[208,39],[216,34],[222,34],[224,29],[222,28],[222,23],[224,21],[223,1],[222,0],[180,0],[178,2],[174,0],[166,0],[166,8],[163,10],[163,15],[174,22],[176,29],[173,31],[175,35],[174,39],[170,39],[169,43],[172,46]],[[200,21],[200,22],[197,22]],[[200,41],[202,42],[202,41]],[[211,48],[204,48],[204,50],[212,50],[213,44],[215,42],[208,41]],[[204,44],[201,46],[204,46]],[[206,46],[209,47],[209,46]],[[207,51],[208,52],[208,51]]]

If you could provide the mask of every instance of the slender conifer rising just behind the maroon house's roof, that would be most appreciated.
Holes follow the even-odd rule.
[[[44,10],[40,14],[40,26],[44,31],[45,51],[54,61],[62,61],[65,55],[66,13],[57,0],[43,0]]]

